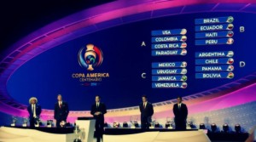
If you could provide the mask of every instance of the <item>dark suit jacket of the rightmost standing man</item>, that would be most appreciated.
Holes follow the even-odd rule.
[[[188,116],[187,105],[182,103],[180,109],[178,109],[177,104],[173,105],[173,113],[174,113],[175,118],[186,119]]]

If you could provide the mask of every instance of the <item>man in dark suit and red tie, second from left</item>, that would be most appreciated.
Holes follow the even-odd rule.
[[[58,94],[58,102],[55,103],[55,120],[56,120],[56,127],[61,127],[61,122],[67,121],[67,116],[69,113],[67,102],[62,100],[61,94]]]

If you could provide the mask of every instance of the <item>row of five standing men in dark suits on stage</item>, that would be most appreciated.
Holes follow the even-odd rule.
[[[69,113],[68,104],[66,101],[62,100],[61,94],[57,96],[58,101],[55,103],[54,118],[56,120],[56,127],[61,127],[61,122],[67,121],[67,116]],[[30,127],[34,127],[35,120],[40,116],[42,108],[38,105],[38,99],[32,97],[29,99],[29,104],[27,111],[30,116]],[[141,112],[141,128],[147,130],[150,127],[151,117],[154,114],[153,105],[148,102],[148,97],[146,95],[142,96],[142,103],[139,105]],[[174,113],[175,128],[177,130],[186,129],[186,119],[188,116],[188,108],[182,103],[182,98],[177,97],[177,104],[173,105],[172,111]],[[90,114],[96,119],[96,139],[100,142],[102,139],[102,134],[104,131],[104,114],[107,113],[106,105],[101,102],[99,95],[96,95],[96,102],[91,105]]]

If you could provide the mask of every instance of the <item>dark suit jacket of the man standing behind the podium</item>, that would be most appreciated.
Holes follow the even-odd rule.
[[[99,116],[94,115],[97,111],[102,112]],[[104,123],[104,114],[107,113],[106,105],[100,102],[99,107],[96,107],[96,103],[91,105],[90,114],[94,116],[96,122]]]

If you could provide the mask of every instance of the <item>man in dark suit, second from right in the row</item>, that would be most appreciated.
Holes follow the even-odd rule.
[[[143,102],[139,105],[141,111],[142,129],[148,129],[151,122],[151,116],[154,114],[153,105],[148,102],[146,95],[143,95]]]

